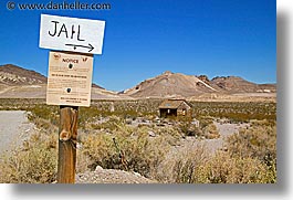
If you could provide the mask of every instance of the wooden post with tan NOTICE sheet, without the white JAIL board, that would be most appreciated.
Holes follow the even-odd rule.
[[[74,183],[79,106],[91,104],[93,55],[50,52],[46,104],[60,105],[57,182]]]

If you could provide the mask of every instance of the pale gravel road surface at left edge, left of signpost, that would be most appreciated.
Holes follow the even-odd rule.
[[[0,154],[13,150],[29,137],[34,125],[23,110],[0,110]]]

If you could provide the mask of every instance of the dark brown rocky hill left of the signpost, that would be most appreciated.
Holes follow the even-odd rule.
[[[46,77],[42,74],[15,66],[6,64],[0,66],[0,84],[4,85],[35,85],[45,84]]]

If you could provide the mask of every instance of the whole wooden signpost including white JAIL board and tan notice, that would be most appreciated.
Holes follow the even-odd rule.
[[[79,106],[91,104],[92,54],[102,54],[104,29],[105,21],[41,14],[40,48],[57,50],[49,56],[46,104],[60,105],[59,183],[75,182]]]

